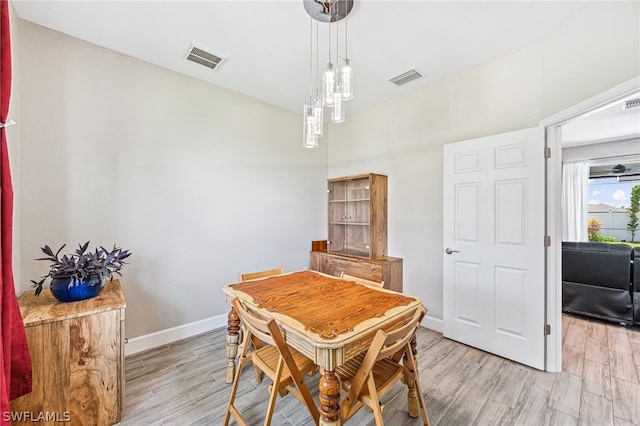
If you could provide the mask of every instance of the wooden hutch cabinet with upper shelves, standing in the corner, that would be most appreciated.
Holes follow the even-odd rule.
[[[384,281],[402,291],[402,259],[387,256],[387,177],[374,173],[328,183],[326,250],[311,252],[311,269]]]

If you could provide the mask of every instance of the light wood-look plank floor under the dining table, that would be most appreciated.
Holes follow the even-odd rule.
[[[229,397],[226,330],[126,358],[121,425],[219,425]],[[563,316],[563,372],[545,373],[418,331],[418,362],[432,425],[640,425],[640,328]],[[269,380],[243,374],[237,405],[262,424]],[[318,375],[306,378],[318,398]],[[406,415],[406,388],[383,400],[390,426],[419,425]],[[235,424],[231,422],[231,424]],[[278,398],[273,425],[311,425],[302,404]],[[361,410],[348,424],[373,425]]]

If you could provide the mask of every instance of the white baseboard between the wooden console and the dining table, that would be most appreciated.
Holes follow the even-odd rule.
[[[226,326],[227,314],[223,314],[191,322],[189,324],[180,325],[178,327],[156,331],[155,333],[145,334],[144,336],[133,337],[128,339],[127,343],[124,345],[124,354],[125,356],[137,354],[148,349],[167,345],[171,342],[175,342],[176,340],[186,339],[187,337],[196,336],[198,334]]]

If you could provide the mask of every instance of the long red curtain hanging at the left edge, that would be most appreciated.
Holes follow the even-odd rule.
[[[9,3],[0,0],[0,122],[11,95]],[[31,392],[31,359],[13,285],[13,188],[6,129],[0,129],[0,424],[11,424],[9,401]]]

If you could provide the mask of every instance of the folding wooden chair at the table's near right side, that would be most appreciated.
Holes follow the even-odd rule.
[[[336,367],[335,373],[347,393],[341,407],[343,422],[366,406],[373,411],[376,425],[384,425],[384,405],[380,398],[398,381],[402,381],[409,386],[410,395],[416,391],[417,408],[424,425],[429,425],[427,406],[411,349],[411,338],[426,312],[427,310],[420,306],[413,317],[401,327],[389,332],[378,330],[366,352]],[[415,407],[415,404],[410,400],[409,405],[412,411],[411,406]]]

